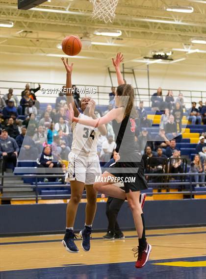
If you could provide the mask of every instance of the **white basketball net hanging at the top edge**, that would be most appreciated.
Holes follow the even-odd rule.
[[[101,21],[113,22],[119,0],[90,0],[93,3],[92,17]]]

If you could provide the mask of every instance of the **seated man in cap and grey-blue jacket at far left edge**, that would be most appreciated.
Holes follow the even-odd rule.
[[[3,157],[3,171],[6,171],[8,168],[8,163],[13,164],[12,170],[16,167],[17,164],[17,155],[19,152],[19,147],[15,139],[8,136],[6,129],[2,129],[0,135],[0,157]]]

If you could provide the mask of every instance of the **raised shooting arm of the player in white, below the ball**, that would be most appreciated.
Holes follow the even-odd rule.
[[[68,63],[68,58],[65,59],[62,57],[61,58],[62,62],[64,63],[65,69],[67,71],[67,80],[66,80],[66,88],[67,88],[67,93],[66,93],[66,97],[67,97],[67,105],[69,106],[70,103],[72,103],[73,108],[74,108],[74,113],[75,116],[78,117],[79,115],[79,111],[75,105],[75,101],[74,98],[72,96],[72,70],[73,70],[73,63],[71,65],[69,65]]]

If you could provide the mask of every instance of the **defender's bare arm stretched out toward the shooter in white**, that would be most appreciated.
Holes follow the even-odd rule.
[[[122,111],[122,108],[120,108],[120,107],[114,108],[114,109],[110,110],[106,115],[104,115],[103,117],[101,117],[99,119],[82,119],[82,118],[75,117],[72,104],[70,103],[69,119],[72,122],[77,122],[77,123],[83,124],[85,126],[99,127],[101,125],[109,123],[110,121],[112,121],[114,119],[117,119],[118,116],[120,115],[121,111]]]

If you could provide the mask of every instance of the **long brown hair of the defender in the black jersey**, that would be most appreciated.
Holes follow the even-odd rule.
[[[125,116],[136,117],[136,110],[134,107],[134,89],[130,84],[121,84],[117,87],[117,96],[129,96],[122,98],[122,105],[125,107]]]

